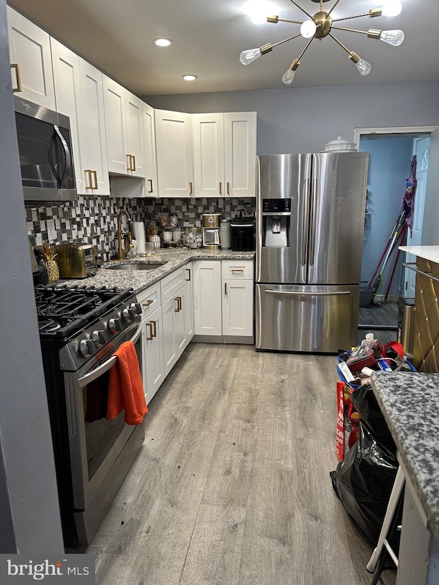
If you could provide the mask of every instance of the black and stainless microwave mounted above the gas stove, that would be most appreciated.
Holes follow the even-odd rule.
[[[25,201],[78,199],[69,118],[18,96],[14,106]]]

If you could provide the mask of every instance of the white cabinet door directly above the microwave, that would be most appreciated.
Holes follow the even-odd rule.
[[[6,10],[14,93],[56,110],[49,34],[10,6]]]

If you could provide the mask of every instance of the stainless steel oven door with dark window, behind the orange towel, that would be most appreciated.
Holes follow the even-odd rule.
[[[108,372],[117,361],[112,354],[128,340],[134,343],[141,368],[141,323],[136,322],[116,337],[111,347],[102,350],[102,355],[107,356],[102,361],[93,359],[78,372],[64,372],[73,502],[78,510],[88,508],[110,470],[114,472],[117,457],[137,430],[137,426],[127,425],[123,420],[125,411],[114,420],[99,418],[86,422],[86,418],[90,419],[86,415],[87,393],[99,382],[108,387]]]

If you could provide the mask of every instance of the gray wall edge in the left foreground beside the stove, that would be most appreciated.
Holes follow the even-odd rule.
[[[0,553],[61,553],[49,414],[0,0]]]

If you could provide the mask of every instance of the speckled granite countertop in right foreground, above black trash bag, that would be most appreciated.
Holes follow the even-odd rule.
[[[439,541],[439,374],[374,372],[373,392]]]

